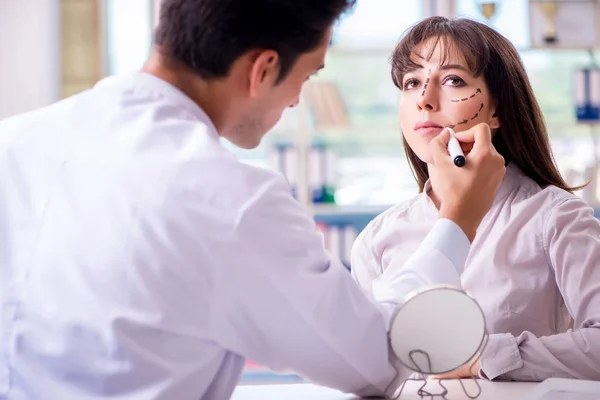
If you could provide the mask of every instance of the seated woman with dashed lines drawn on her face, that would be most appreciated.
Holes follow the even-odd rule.
[[[507,171],[461,276],[490,333],[472,370],[487,379],[600,380],[600,223],[558,172],[515,48],[484,24],[433,17],[402,38],[392,78],[403,92],[404,147],[420,193],[360,234],[355,279],[369,291],[385,268],[404,263],[437,219],[429,141],[446,126],[460,139],[460,131],[488,124]],[[469,368],[449,376],[470,376]]]

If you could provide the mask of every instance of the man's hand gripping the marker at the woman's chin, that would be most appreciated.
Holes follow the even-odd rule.
[[[492,145],[487,124],[456,132],[463,147],[472,149],[465,155],[463,167],[454,165],[448,155],[450,133],[444,130],[430,143],[434,168],[430,176],[436,196],[440,199],[440,218],[454,221],[470,241],[487,214],[506,172],[504,158]]]

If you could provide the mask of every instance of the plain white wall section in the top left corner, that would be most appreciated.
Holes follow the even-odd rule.
[[[60,0],[0,0],[0,119],[60,98]]]

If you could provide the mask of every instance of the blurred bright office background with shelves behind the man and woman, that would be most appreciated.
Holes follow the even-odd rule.
[[[0,0],[0,119],[138,70],[160,0]],[[301,106],[254,150],[225,143],[246,163],[282,172],[348,268],[351,244],[375,215],[417,193],[404,156],[400,92],[389,56],[431,15],[483,21],[519,49],[542,106],[554,155],[578,195],[600,206],[600,6],[595,0],[358,0],[336,25],[326,67]],[[249,364],[243,381],[294,380]]]

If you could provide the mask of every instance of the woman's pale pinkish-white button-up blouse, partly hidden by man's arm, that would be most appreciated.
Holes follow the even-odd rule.
[[[404,264],[437,220],[429,183],[425,189],[357,238],[352,275],[367,292],[385,269]],[[600,379],[600,221],[577,196],[542,188],[509,165],[461,281],[490,333],[482,377]]]

